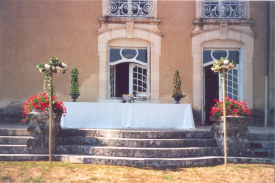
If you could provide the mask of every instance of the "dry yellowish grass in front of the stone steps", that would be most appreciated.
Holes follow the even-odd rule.
[[[0,161],[1,182],[274,182],[270,164],[190,168]]]

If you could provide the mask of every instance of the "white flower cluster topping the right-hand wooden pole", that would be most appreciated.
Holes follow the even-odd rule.
[[[224,68],[224,71],[231,70],[236,66],[233,60],[229,58],[221,57],[219,60],[215,61],[211,67],[211,70],[214,72],[221,72]]]

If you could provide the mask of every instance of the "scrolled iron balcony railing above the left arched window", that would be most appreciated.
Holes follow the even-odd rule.
[[[106,15],[152,17],[153,0],[107,0]]]

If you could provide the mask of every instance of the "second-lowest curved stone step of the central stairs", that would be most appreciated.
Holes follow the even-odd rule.
[[[56,153],[78,153],[120,157],[188,157],[220,155],[218,147],[145,148],[91,145],[57,145]]]

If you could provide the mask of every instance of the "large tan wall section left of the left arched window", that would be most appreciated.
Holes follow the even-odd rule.
[[[101,6],[101,0],[1,0],[0,107],[43,92],[43,74],[35,66],[53,55],[69,67],[54,74],[57,96],[71,101],[70,71],[77,67],[78,101],[96,101]]]

